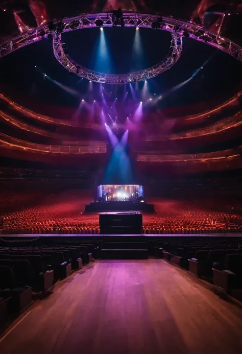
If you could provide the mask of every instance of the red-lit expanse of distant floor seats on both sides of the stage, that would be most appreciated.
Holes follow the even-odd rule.
[[[85,191],[67,190],[54,192],[51,196],[50,192],[43,192],[41,203],[35,198],[32,206],[5,214],[2,232],[99,233],[99,216],[81,214],[90,198]],[[217,202],[218,205],[215,205],[209,199],[208,202],[206,200],[206,196],[197,203],[179,198],[149,200],[155,205],[157,213],[143,215],[143,233],[220,233],[242,229],[242,218],[232,206],[237,205],[236,202],[231,205],[228,202],[226,205]]]

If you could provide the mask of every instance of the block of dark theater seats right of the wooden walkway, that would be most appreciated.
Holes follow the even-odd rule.
[[[204,241],[160,241],[157,253],[242,300],[242,239]]]

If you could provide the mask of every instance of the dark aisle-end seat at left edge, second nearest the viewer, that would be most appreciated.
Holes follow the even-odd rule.
[[[0,266],[0,296],[9,298],[9,310],[11,313],[21,312],[32,301],[31,287],[18,287],[12,268]]]

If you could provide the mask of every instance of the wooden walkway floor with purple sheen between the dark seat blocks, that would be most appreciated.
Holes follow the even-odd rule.
[[[242,352],[242,310],[162,259],[96,261],[0,339],[3,354]]]

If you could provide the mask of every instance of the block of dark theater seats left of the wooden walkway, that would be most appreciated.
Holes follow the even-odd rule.
[[[92,261],[93,255],[99,256],[99,245],[81,242],[0,247],[0,330],[31,304],[33,293],[50,293],[57,280]]]

